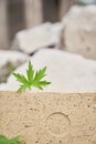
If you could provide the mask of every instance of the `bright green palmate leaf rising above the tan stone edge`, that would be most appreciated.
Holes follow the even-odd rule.
[[[33,70],[33,65],[31,64],[31,61],[29,61],[26,78],[22,74],[13,73],[13,75],[17,78],[17,81],[21,83],[18,91],[19,92],[25,91],[26,89],[31,89],[32,86],[43,90],[44,86],[51,84],[51,82],[43,80],[43,78],[46,75],[45,72],[46,72],[46,66],[35,72]]]

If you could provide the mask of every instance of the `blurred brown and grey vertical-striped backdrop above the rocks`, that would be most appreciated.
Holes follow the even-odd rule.
[[[96,0],[0,0],[0,49],[10,49],[20,30],[61,21],[73,4],[96,4]]]

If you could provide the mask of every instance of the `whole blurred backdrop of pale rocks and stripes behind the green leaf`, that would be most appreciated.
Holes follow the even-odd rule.
[[[49,68],[46,90],[96,91],[96,0],[0,0],[0,90],[29,59]]]

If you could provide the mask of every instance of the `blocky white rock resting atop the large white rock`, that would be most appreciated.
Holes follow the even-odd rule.
[[[12,49],[32,53],[38,49],[55,45],[60,40],[61,23],[44,23],[17,33]]]

